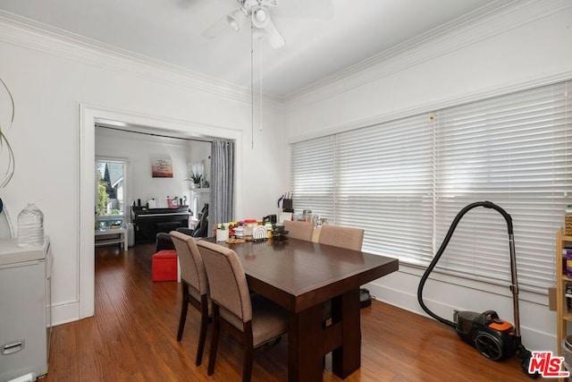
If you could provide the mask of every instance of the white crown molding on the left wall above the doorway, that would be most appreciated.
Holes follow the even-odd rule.
[[[48,55],[116,72],[130,72],[144,79],[182,86],[251,103],[250,89],[242,88],[203,73],[168,64],[145,55],[113,47],[99,41],[60,30],[38,21],[0,10],[0,41]],[[264,106],[282,112],[282,99],[264,95]]]

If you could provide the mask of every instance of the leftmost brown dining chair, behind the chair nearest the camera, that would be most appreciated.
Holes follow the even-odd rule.
[[[212,313],[212,303],[208,293],[208,278],[206,276],[205,264],[200,256],[195,239],[188,234],[177,231],[172,231],[170,235],[181,264],[182,301],[177,341],[181,341],[185,321],[187,320],[187,309],[191,305],[200,312],[200,330],[195,359],[195,364],[198,366],[203,360],[206,328]]]

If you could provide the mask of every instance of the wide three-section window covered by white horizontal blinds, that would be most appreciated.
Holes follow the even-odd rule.
[[[492,201],[512,216],[521,287],[545,293],[554,279],[554,233],[572,203],[569,86],[294,143],[294,207],[365,228],[364,250],[426,266],[462,208]],[[507,284],[504,218],[488,208],[469,211],[437,270]]]

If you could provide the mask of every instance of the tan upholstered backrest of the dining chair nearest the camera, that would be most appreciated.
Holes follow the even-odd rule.
[[[240,322],[250,321],[252,304],[239,256],[234,250],[204,240],[198,242],[198,250],[205,262],[211,300]],[[238,328],[242,330],[242,327]]]

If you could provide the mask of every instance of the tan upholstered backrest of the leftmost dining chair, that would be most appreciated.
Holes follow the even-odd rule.
[[[171,231],[172,243],[177,250],[181,264],[181,278],[197,289],[198,293],[208,293],[208,278],[203,259],[198,251],[197,242],[191,236],[177,231]]]

